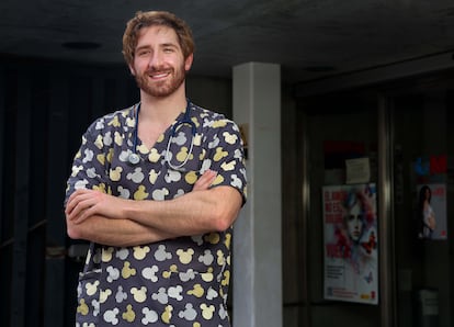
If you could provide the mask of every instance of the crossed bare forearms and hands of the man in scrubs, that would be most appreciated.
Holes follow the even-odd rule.
[[[222,232],[235,222],[240,193],[209,185],[206,171],[192,192],[169,201],[134,201],[93,190],[78,190],[67,202],[68,236],[110,246],[136,246],[179,236]]]

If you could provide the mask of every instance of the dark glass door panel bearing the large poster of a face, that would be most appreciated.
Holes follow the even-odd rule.
[[[304,99],[309,325],[381,326],[377,95]]]

